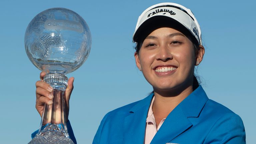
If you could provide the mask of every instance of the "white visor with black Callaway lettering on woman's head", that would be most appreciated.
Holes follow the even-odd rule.
[[[136,42],[138,32],[143,25],[156,16],[166,16],[182,24],[196,38],[199,45],[202,45],[200,26],[190,9],[176,3],[159,3],[147,8],[138,18],[133,34],[133,41]],[[169,24],[168,24],[169,25]],[[170,26],[172,24],[170,23]]]

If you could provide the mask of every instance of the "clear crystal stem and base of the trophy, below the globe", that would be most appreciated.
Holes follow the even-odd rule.
[[[64,74],[49,73],[44,82],[53,87],[53,104],[44,105],[40,128],[29,144],[74,144],[67,131],[65,89],[68,78]]]

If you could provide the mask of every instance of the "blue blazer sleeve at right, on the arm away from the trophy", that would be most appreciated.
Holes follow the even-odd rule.
[[[204,144],[246,144],[242,119],[235,113],[227,113],[212,126]]]

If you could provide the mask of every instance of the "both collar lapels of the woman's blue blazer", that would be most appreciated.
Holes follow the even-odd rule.
[[[124,119],[125,144],[144,142],[146,119],[153,96],[154,93],[152,92],[129,110],[129,115]],[[199,85],[167,116],[151,144],[168,143],[189,129],[192,123],[188,117],[198,117],[207,100],[208,97]]]

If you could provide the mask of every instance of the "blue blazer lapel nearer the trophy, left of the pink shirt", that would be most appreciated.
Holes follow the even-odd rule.
[[[148,109],[154,93],[139,101],[124,119],[124,144],[143,144]]]

